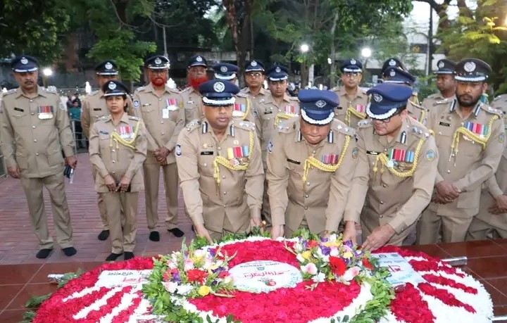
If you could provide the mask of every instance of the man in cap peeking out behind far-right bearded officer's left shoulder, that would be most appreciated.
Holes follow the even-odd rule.
[[[437,66],[438,70],[434,73],[437,75],[439,92],[423,100],[421,106],[426,110],[439,107],[445,108],[456,97],[456,80],[454,80],[456,63],[444,58],[438,61]]]

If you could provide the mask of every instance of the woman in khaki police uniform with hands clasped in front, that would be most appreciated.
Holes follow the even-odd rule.
[[[137,117],[125,113],[129,91],[117,80],[102,87],[110,115],[99,118],[89,139],[90,163],[95,167],[96,191],[106,205],[114,261],[134,257],[137,201],[144,188],[142,163],[146,159],[146,129]],[[122,223],[123,222],[123,223]]]

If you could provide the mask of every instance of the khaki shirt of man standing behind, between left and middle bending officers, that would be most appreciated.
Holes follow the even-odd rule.
[[[268,143],[277,131],[280,122],[298,115],[299,100],[287,94],[284,94],[280,106],[275,103],[275,98],[272,95],[267,96],[263,102],[259,101],[255,122],[258,136],[261,139],[263,163],[266,163]]]

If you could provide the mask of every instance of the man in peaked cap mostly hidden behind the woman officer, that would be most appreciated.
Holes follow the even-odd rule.
[[[90,137],[90,129],[92,129],[94,122],[109,114],[102,87],[110,80],[118,80],[118,65],[111,60],[101,62],[95,66],[95,73],[96,82],[99,83],[99,90],[88,94],[82,101],[81,127],[87,138]],[[96,179],[96,170],[93,165],[92,177],[94,180]],[[107,222],[107,210],[102,199],[102,194],[98,195],[97,204],[99,205],[99,213],[102,220],[102,231],[97,238],[104,241],[109,236],[109,224]]]

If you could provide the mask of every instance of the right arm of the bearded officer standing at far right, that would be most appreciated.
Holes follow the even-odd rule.
[[[500,163],[501,154],[503,152],[505,143],[500,139],[503,133],[503,120],[495,120],[491,136],[486,144],[486,149],[482,152],[482,159],[480,160],[479,167],[469,172],[462,179],[453,182],[456,191],[473,191],[481,186],[489,177],[494,176],[494,172]]]

